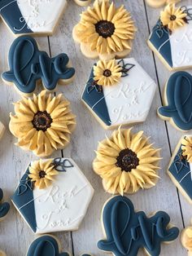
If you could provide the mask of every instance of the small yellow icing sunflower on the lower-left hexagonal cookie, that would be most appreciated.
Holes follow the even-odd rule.
[[[46,161],[40,159],[39,161],[33,161],[31,166],[28,167],[28,177],[32,180],[35,187],[39,189],[49,187],[55,178],[54,176],[58,174],[55,166],[51,166],[52,161],[53,159]]]

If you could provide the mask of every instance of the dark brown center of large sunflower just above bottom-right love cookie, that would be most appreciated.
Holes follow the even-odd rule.
[[[120,167],[121,170],[129,172],[135,169],[139,164],[137,154],[129,148],[125,148],[120,151],[119,156],[116,158],[116,166]]]

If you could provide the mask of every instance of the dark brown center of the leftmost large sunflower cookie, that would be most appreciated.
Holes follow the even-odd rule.
[[[36,130],[43,130],[46,131],[48,128],[50,128],[52,123],[52,118],[50,117],[50,114],[46,111],[38,111],[34,118],[33,118],[33,126]]]

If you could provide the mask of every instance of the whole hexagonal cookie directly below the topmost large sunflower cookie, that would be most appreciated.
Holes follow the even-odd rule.
[[[156,85],[133,58],[99,60],[82,95],[104,129],[146,120]]]

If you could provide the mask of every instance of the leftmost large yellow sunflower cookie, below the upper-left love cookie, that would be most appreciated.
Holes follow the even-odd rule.
[[[70,142],[76,126],[76,117],[70,103],[62,94],[57,96],[42,90],[33,98],[16,102],[15,114],[10,114],[9,124],[16,145],[31,150],[38,157],[47,157]]]

